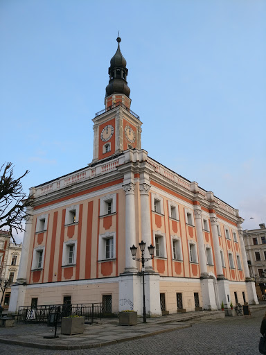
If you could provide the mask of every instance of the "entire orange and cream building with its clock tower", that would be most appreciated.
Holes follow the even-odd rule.
[[[155,246],[145,263],[148,316],[257,303],[238,210],[141,148],[117,42],[105,109],[93,119],[91,164],[30,189],[35,202],[10,311],[32,302],[103,302],[112,313],[141,315],[140,264],[130,252],[141,240]]]

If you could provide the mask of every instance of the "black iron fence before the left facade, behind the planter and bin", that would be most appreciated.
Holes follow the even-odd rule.
[[[81,315],[85,317],[85,322],[93,323],[96,319],[103,317],[102,303],[88,304],[52,304],[49,306],[21,306],[19,307],[17,322],[25,323],[47,323],[55,309],[60,308],[58,322],[62,317],[69,315]]]

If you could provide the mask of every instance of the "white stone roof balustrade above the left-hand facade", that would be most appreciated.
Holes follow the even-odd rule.
[[[82,171],[69,174],[62,178],[54,180],[53,182],[49,182],[48,184],[36,187],[35,197],[44,196],[47,193],[63,189],[64,187],[71,186],[78,182],[95,178],[96,176],[103,175],[105,173],[108,173],[109,171],[115,171],[116,166],[121,165],[124,162],[125,157],[124,155],[121,155],[121,157],[113,159],[109,162],[98,164],[94,167],[89,166],[87,168],[82,169]]]

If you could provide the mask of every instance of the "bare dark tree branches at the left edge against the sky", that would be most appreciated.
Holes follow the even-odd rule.
[[[33,196],[26,197],[21,184],[21,179],[28,174],[28,170],[15,179],[13,165],[7,163],[1,166],[0,173],[2,173],[0,176],[0,230],[3,227],[8,227],[10,236],[15,242],[12,230],[24,231],[24,220],[29,216],[27,207],[33,204]]]

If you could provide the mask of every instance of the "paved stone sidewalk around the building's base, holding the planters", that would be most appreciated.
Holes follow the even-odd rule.
[[[250,307],[251,312],[252,309],[263,308],[266,305]],[[57,339],[44,339],[44,336],[54,334],[54,327],[47,327],[46,324],[16,324],[12,328],[0,328],[0,343],[39,349],[89,349],[188,328],[199,320],[219,318],[224,318],[223,311],[188,312],[148,318],[146,324],[139,318],[138,324],[132,327],[119,326],[118,318],[103,318],[96,324],[85,324],[85,332],[75,336],[62,335],[58,327]]]

